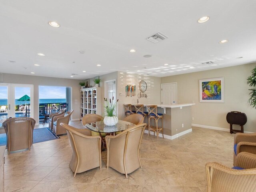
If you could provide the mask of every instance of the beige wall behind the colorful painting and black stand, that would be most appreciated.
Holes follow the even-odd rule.
[[[256,132],[256,109],[248,103],[249,86],[247,77],[256,63],[202,72],[194,72],[161,78],[161,83],[178,83],[178,103],[192,103],[192,124],[213,126],[229,129],[226,114],[230,111],[240,111],[247,115],[248,121],[244,126],[245,131]],[[224,77],[225,102],[200,103],[199,80],[206,78]],[[238,128],[236,126],[236,128]]]

